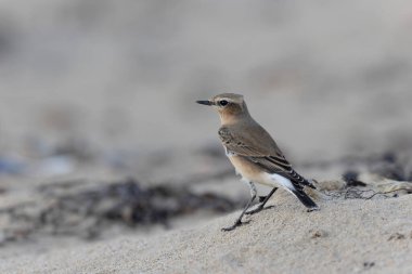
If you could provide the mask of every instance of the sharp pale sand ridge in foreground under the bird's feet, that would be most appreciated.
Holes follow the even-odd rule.
[[[223,233],[236,213],[150,237],[3,260],[1,273],[411,273],[412,199],[292,199]]]

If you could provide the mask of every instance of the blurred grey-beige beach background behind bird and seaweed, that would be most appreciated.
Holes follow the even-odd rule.
[[[307,174],[342,174],[306,168],[318,161],[409,155],[411,29],[408,1],[2,0],[0,206],[67,180],[233,172],[217,114],[194,103],[222,92],[244,94]]]

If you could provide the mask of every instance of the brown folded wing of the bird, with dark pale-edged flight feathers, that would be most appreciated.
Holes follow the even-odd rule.
[[[244,157],[270,173],[289,179],[297,188],[302,188],[302,185],[314,188],[292,168],[276,143],[261,127],[248,131],[248,134],[222,127],[219,129],[219,138],[228,153]]]

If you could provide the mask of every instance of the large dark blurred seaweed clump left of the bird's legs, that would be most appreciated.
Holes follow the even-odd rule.
[[[76,184],[78,182],[73,185]],[[60,187],[72,187],[69,185]],[[186,187],[168,185],[145,187],[132,179],[69,195],[59,195],[55,187],[39,188],[44,196],[42,201],[2,209],[0,216],[8,214],[12,222],[12,229],[0,230],[3,239],[27,238],[36,232],[92,239],[113,225],[137,229],[160,224],[169,227],[172,218],[197,210],[228,212],[241,207],[241,200],[216,194],[194,194]]]

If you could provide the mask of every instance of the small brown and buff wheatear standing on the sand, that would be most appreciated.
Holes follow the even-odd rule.
[[[222,229],[223,231],[231,231],[241,225],[245,213],[253,214],[261,211],[279,186],[295,195],[308,208],[308,211],[319,209],[304,192],[305,186],[316,187],[292,168],[269,133],[252,118],[243,95],[223,93],[207,101],[197,101],[197,103],[214,106],[219,113],[221,121],[219,136],[226,155],[236,173],[241,174],[243,181],[250,187],[252,198],[245,209],[234,224]],[[262,197],[256,209],[247,211],[257,195],[254,183],[273,188],[268,196]]]

